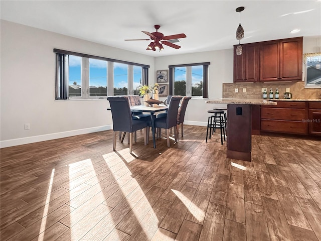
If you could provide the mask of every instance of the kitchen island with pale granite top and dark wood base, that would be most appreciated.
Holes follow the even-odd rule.
[[[227,151],[226,157],[251,161],[251,114],[256,105],[276,105],[266,99],[221,98],[205,101],[209,104],[227,104]]]

